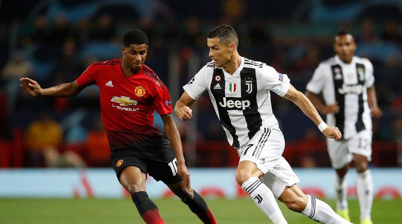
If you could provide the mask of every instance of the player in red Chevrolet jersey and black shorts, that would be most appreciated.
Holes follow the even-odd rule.
[[[94,62],[73,82],[43,89],[30,78],[21,78],[21,87],[33,96],[66,97],[78,94],[88,85],[99,86],[113,168],[145,223],[164,224],[158,207],[146,193],[148,173],[155,180],[162,180],[203,223],[216,224],[205,201],[190,186],[169,92],[144,65],[147,36],[140,30],[131,30],[124,35],[123,45],[123,59]],[[155,109],[169,141],[153,126]]]

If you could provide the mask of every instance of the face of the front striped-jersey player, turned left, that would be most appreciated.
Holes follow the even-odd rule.
[[[219,38],[208,38],[209,57],[215,62],[216,67],[225,67],[230,62],[230,45],[219,42]]]

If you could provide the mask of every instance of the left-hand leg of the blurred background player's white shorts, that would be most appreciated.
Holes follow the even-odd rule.
[[[352,154],[348,149],[349,140],[327,139],[328,154],[330,155],[331,164],[334,169],[340,169],[352,161]]]

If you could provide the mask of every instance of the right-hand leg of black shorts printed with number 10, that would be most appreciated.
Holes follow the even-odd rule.
[[[163,144],[158,149],[147,152],[147,157],[148,174],[156,181],[161,180],[167,185],[182,181],[177,173],[177,159],[169,141],[163,139]]]

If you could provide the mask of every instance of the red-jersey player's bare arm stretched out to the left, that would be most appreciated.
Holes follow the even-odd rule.
[[[30,78],[20,78],[19,81],[21,82],[20,86],[33,96],[74,96],[83,89],[83,87],[78,85],[76,80],[44,89],[38,84],[38,82]]]

